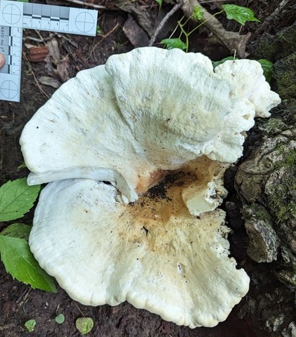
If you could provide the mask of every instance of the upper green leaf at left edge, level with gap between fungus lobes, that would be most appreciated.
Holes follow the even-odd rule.
[[[28,186],[27,179],[16,179],[0,187],[0,221],[22,217],[32,208],[40,186]]]

